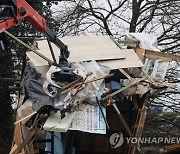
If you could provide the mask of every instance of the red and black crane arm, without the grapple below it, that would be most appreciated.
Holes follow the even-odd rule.
[[[46,20],[34,10],[25,0],[1,0],[0,17],[9,14],[10,17],[0,20],[0,31],[7,30],[18,25],[25,19],[32,24],[34,29],[45,34],[48,40],[60,49],[60,60],[67,61],[70,52],[67,46],[57,38],[57,35],[47,26]]]

